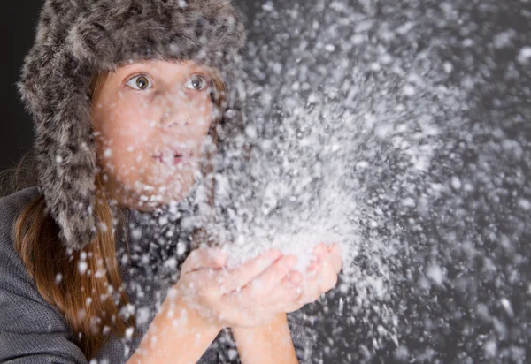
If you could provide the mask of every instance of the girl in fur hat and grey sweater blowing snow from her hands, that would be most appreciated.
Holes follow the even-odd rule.
[[[310,360],[290,313],[335,286],[337,246],[313,276],[276,250],[227,269],[181,224],[242,131],[243,42],[224,0],[45,2],[19,82],[38,186],[0,200],[1,361]]]

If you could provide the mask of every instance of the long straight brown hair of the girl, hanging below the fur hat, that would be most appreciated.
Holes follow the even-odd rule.
[[[95,98],[103,86],[105,72],[96,74],[90,86],[90,96]],[[213,77],[212,101],[221,109],[225,95],[225,84],[216,75]],[[217,146],[216,125],[221,118],[212,122],[209,134]],[[32,151],[24,155],[11,171],[11,184],[3,183],[2,194],[12,193],[27,186],[35,186],[35,156]],[[205,155],[208,163],[203,165],[204,176],[213,171],[212,154]],[[30,165],[30,167],[26,167]],[[24,174],[20,178],[21,174]],[[212,177],[212,176],[211,176]],[[213,178],[211,200],[213,198]],[[105,191],[104,179],[96,175],[96,194]],[[105,192],[108,193],[108,192]],[[104,197],[102,193],[102,197]],[[123,211],[113,216],[107,198],[96,198],[94,214],[103,226],[113,226],[113,218],[118,219],[117,230],[125,233],[127,226]],[[204,231],[194,231],[194,239],[204,239]],[[127,328],[135,327],[135,316],[123,317],[120,308],[129,302],[125,287],[122,286],[119,263],[116,258],[116,235],[113,229],[98,229],[96,239],[79,251],[66,248],[58,239],[58,225],[47,213],[43,195],[35,197],[17,217],[13,226],[14,246],[24,262],[29,275],[44,300],[47,300],[65,316],[76,345],[90,360],[108,340],[110,334],[125,335]],[[79,269],[83,264],[86,269]]]

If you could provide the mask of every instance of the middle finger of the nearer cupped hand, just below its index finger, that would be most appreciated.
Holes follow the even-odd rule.
[[[295,255],[285,255],[274,262],[269,268],[264,270],[258,277],[255,277],[242,288],[242,297],[245,300],[255,300],[258,297],[269,295],[275,287],[281,285],[282,278],[286,277],[296,264]]]

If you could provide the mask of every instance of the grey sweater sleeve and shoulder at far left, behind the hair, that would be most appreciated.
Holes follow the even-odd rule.
[[[71,330],[56,307],[42,299],[14,249],[16,216],[36,187],[0,199],[0,363],[83,363]]]

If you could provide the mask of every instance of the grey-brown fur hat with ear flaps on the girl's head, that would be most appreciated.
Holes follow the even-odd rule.
[[[17,86],[34,120],[39,190],[65,246],[96,237],[92,75],[156,57],[218,68],[227,86],[222,143],[242,124],[244,42],[229,0],[46,0]]]

